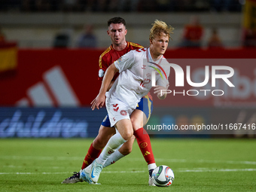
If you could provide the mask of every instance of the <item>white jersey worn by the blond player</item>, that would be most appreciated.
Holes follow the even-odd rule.
[[[106,93],[106,102],[118,100],[134,110],[139,100],[151,90],[153,72],[156,72],[156,84],[168,87],[170,67],[166,63],[163,56],[154,62],[149,48],[130,50],[114,62],[120,74]]]

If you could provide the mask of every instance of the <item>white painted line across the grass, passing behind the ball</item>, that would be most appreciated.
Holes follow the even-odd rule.
[[[102,171],[102,173],[138,173],[146,171]],[[256,172],[256,169],[185,169],[185,170],[173,170],[173,172]],[[0,175],[47,175],[47,174],[68,174],[70,172],[0,172]]]

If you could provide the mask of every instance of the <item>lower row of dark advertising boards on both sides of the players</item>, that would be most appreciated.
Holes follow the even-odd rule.
[[[0,138],[94,138],[105,114],[90,108],[0,108]],[[161,137],[254,138],[255,122],[253,108],[154,108],[144,128]]]

